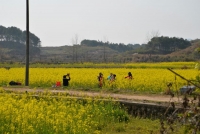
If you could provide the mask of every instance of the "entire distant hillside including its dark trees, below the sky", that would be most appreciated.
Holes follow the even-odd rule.
[[[39,37],[31,32],[29,35],[31,63],[195,61],[200,58],[195,51],[200,47],[200,39],[155,36],[141,45],[84,39],[73,46],[42,47]],[[0,26],[0,62],[24,63],[25,58],[26,31]]]

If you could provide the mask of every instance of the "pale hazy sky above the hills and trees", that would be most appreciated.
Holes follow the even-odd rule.
[[[0,25],[26,30],[26,0],[0,0]],[[83,39],[143,44],[159,36],[200,39],[200,0],[29,0],[29,31],[41,45]]]

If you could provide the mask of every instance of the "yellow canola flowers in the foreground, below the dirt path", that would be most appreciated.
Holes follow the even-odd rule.
[[[107,124],[127,119],[128,114],[110,99],[80,100],[50,93],[0,95],[0,133],[100,133]]]

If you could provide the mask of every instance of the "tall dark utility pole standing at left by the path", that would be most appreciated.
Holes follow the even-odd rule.
[[[29,0],[26,0],[26,72],[25,86],[29,85]]]

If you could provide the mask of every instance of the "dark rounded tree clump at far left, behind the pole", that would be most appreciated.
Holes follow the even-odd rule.
[[[33,33],[29,32],[29,43],[33,47],[40,47],[41,41]],[[26,31],[22,31],[17,27],[4,27],[0,25],[0,41],[11,41],[26,44]]]

